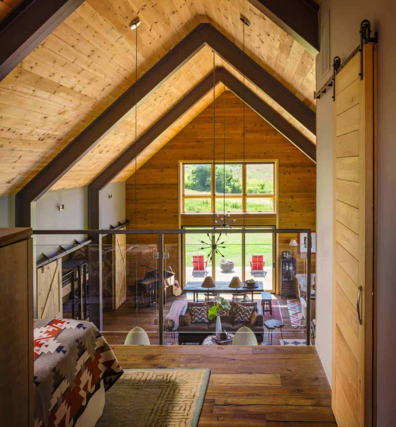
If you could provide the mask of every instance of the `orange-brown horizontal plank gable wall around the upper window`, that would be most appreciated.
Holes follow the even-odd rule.
[[[230,91],[226,91],[226,161],[241,161],[243,103]],[[223,98],[215,103],[215,158],[223,161]],[[245,160],[278,160],[278,219],[274,215],[247,214],[251,225],[275,225],[281,228],[309,227],[315,229],[316,168],[285,137],[245,106]],[[213,105],[209,105],[178,135],[170,140],[157,154],[153,155],[137,173],[126,181],[126,216],[131,218],[128,228],[135,227],[135,178],[137,178],[137,228],[179,227],[179,162],[211,161],[213,159]],[[181,225],[197,225],[195,219],[210,222],[211,215],[185,214]],[[236,215],[238,216],[238,215]],[[207,217],[205,219],[205,217]],[[195,222],[195,223],[194,223]],[[206,225],[206,222],[204,223]],[[291,238],[282,235],[278,245],[290,247]],[[127,237],[132,244],[133,238]],[[139,240],[140,242],[140,240]],[[176,244],[177,240],[169,244]],[[285,249],[283,249],[285,250]],[[279,256],[279,255],[278,255]],[[297,257],[297,268],[303,272],[304,260]],[[177,257],[172,260],[172,267]],[[127,264],[129,269],[129,263]],[[315,256],[312,255],[312,272],[315,271]],[[127,273],[129,276],[129,273]]]

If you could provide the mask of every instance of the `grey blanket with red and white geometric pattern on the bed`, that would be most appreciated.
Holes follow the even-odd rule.
[[[92,323],[35,320],[35,427],[73,427],[101,380],[107,391],[121,375],[113,351]]]

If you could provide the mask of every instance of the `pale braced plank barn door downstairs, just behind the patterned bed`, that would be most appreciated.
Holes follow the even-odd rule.
[[[37,269],[37,317],[60,319],[62,307],[62,260]]]

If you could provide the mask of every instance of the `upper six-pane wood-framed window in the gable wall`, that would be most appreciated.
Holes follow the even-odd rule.
[[[275,163],[182,164],[182,213],[275,212]]]

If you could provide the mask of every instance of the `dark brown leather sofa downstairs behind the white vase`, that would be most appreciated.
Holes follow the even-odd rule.
[[[188,302],[179,315],[179,326],[178,326],[178,342],[179,344],[186,343],[198,343],[202,344],[202,341],[208,336],[215,333],[216,330],[216,318],[209,320],[208,323],[191,323],[187,325],[184,316],[187,314],[187,310],[192,306],[201,306],[203,304],[209,304],[212,306],[214,301],[209,301],[208,303],[204,302]],[[236,302],[230,301],[231,310],[229,316],[221,316],[221,328],[226,332],[235,333],[239,328],[242,328],[244,325],[243,322],[235,322],[234,307]],[[246,303],[246,305],[251,305],[256,303]],[[250,325],[250,322],[245,322],[245,326],[253,330],[256,335],[257,341],[262,342],[263,333],[264,333],[264,319],[263,311],[260,304],[257,304],[257,322],[254,325]]]

